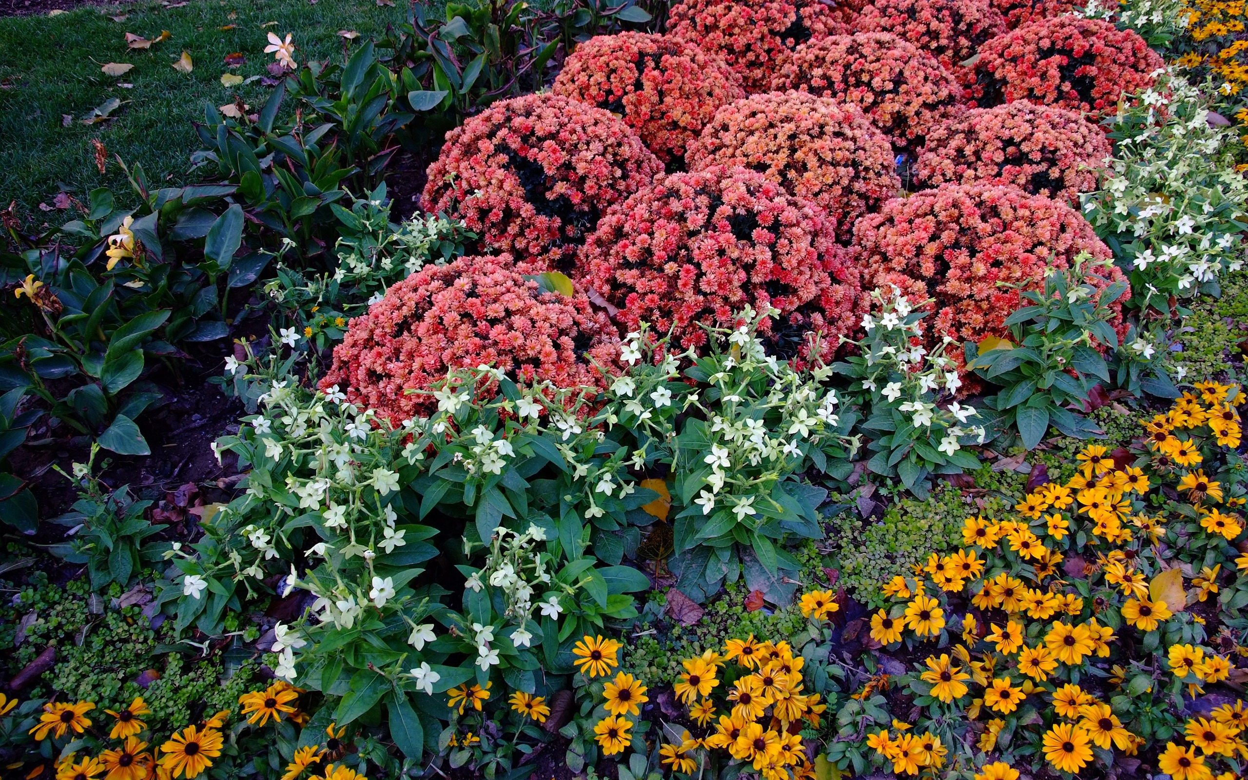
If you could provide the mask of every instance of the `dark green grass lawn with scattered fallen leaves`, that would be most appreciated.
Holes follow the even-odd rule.
[[[116,21],[116,15],[125,19]],[[129,192],[116,162],[105,175],[96,170],[94,139],[107,147],[110,160],[117,154],[127,165],[142,163],[152,181],[185,183],[190,155],[200,149],[191,122],[202,121],[203,104],[222,105],[240,95],[258,109],[266,100],[268,89],[258,80],[227,89],[220,79],[223,72],[266,75],[273,61],[265,54],[268,32],[293,34],[302,65],[341,57],[339,30],[377,36],[404,17],[402,0],[396,7],[376,0],[191,0],[180,7],[139,2],[0,19],[0,207],[16,200],[26,213],[55,223],[59,217],[44,215],[39,203],[52,206],[61,190],[80,198],[101,185],[119,196]],[[221,29],[228,25],[233,29]],[[126,32],[154,39],[162,30],[171,37],[147,50],[126,45]],[[190,74],[172,67],[183,50],[193,61]],[[227,67],[226,55],[236,51],[247,62]],[[100,69],[107,62],[134,69],[106,76]],[[112,112],[116,119],[80,121],[114,97],[122,101]],[[72,117],[67,125],[65,115]]]

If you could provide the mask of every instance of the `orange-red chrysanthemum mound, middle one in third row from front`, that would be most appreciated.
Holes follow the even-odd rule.
[[[917,149],[961,111],[962,87],[926,51],[889,32],[830,35],[794,50],[773,90],[801,90],[856,105],[900,149]]]

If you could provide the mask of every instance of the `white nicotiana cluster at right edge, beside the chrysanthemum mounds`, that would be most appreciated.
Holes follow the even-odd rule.
[[[1234,170],[1233,127],[1209,122],[1209,104],[1183,77],[1158,84],[1113,120],[1116,152],[1083,216],[1131,270],[1134,305],[1166,307],[1243,266],[1239,235],[1248,182]]]

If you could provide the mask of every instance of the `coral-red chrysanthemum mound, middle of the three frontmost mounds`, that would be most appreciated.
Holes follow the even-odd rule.
[[[613,207],[582,251],[582,283],[675,342],[706,342],[699,323],[724,326],[746,305],[780,310],[764,328],[781,352],[802,352],[807,331],[836,347],[855,323],[859,283],[814,203],[763,173],[715,166],[659,176]]]

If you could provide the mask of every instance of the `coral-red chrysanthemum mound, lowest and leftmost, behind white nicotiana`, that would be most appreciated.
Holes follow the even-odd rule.
[[[539,292],[510,256],[461,257],[426,266],[352,319],[321,387],[337,384],[397,426],[437,408],[431,396],[404,391],[427,391],[452,368],[490,364],[524,382],[600,384],[584,354],[608,364],[618,342],[588,298]]]

